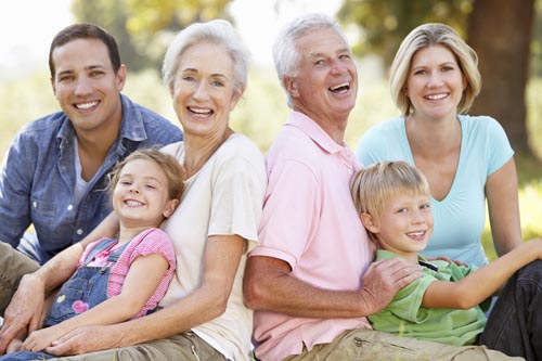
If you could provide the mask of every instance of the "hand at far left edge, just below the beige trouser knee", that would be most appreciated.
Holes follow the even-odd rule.
[[[17,291],[5,309],[0,330],[0,354],[21,332],[29,333],[41,326],[44,304],[44,285],[39,278],[23,276]]]

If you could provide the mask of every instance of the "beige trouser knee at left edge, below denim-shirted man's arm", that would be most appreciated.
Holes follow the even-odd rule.
[[[23,275],[38,268],[38,262],[0,242],[0,315],[3,315]]]

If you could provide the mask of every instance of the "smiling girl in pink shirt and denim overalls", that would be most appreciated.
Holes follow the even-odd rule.
[[[152,312],[176,268],[169,236],[157,227],[179,204],[183,182],[175,157],[150,149],[130,154],[109,175],[118,238],[102,238],[81,255],[78,269],[50,298],[44,328],[14,340],[0,360],[50,359],[52,341],[77,327],[112,324]]]

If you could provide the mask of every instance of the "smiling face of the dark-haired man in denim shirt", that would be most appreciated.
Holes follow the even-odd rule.
[[[54,95],[76,131],[116,133],[126,68],[115,73],[107,47],[96,39],[76,39],[55,48],[52,61]]]

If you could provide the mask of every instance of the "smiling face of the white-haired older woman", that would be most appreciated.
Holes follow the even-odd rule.
[[[184,137],[221,138],[240,99],[223,46],[196,43],[182,54],[171,89]]]

